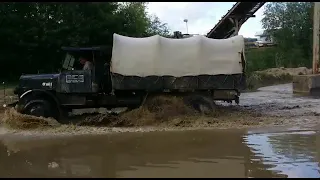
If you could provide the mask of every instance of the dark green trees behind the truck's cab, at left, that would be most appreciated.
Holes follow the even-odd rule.
[[[113,33],[132,37],[166,35],[144,2],[0,4],[0,80],[22,73],[50,73],[61,67],[61,46],[107,46]]]

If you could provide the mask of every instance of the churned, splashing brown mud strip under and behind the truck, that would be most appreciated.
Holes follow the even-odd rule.
[[[99,113],[77,115],[70,125],[60,125],[54,120],[21,115],[6,110],[2,126],[24,131],[62,134],[87,134],[123,131],[185,130],[206,128],[247,128],[265,126],[317,125],[319,99],[292,94],[292,85],[283,84],[243,93],[240,105],[217,103],[215,110],[203,115],[187,107],[179,98],[158,97],[150,99],[139,109],[120,115]],[[26,119],[28,119],[26,121]],[[31,123],[30,123],[31,122]],[[49,122],[49,123],[48,123]]]

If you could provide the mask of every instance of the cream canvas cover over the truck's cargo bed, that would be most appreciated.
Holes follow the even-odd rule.
[[[242,74],[242,52],[242,36],[170,39],[159,35],[132,38],[114,34],[111,59],[113,85],[119,88],[120,76],[122,80],[124,77],[135,77],[141,81],[146,77],[179,79]]]

